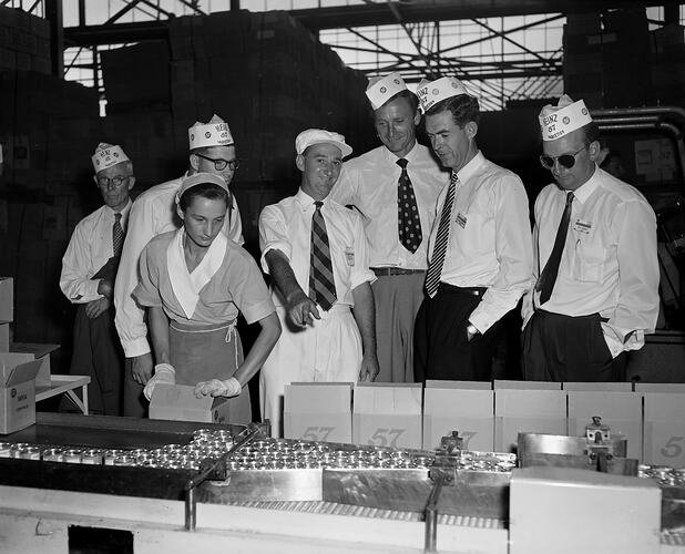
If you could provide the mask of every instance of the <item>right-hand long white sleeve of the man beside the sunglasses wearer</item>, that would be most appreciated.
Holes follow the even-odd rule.
[[[494,188],[495,256],[499,270],[469,321],[485,332],[530,288],[533,248],[528,196],[515,177],[503,177]]]

